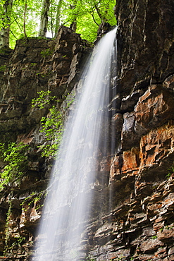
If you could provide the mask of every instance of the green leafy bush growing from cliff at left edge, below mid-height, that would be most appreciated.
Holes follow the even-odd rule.
[[[20,142],[9,143],[7,146],[0,143],[0,159],[6,166],[1,171],[0,189],[3,189],[8,183],[18,181],[27,171],[27,148],[28,145]]]

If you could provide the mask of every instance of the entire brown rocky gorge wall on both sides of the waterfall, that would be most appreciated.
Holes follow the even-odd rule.
[[[109,105],[115,153],[97,166],[102,189],[96,186],[94,206],[100,202],[101,212],[83,243],[89,260],[174,260],[174,3],[118,0],[116,18],[118,72]],[[30,164],[20,183],[1,191],[1,253],[7,216],[10,236],[0,260],[30,260],[44,201],[34,198],[46,189],[53,163],[37,149],[45,142],[40,119],[49,108],[32,108],[31,99],[51,90],[63,102],[90,51],[79,35],[61,28],[55,41],[19,40],[9,63],[3,56],[1,140],[28,143]]]

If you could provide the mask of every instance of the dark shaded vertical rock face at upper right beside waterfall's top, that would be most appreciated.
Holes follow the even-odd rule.
[[[144,89],[173,74],[173,1],[118,1],[120,91]]]

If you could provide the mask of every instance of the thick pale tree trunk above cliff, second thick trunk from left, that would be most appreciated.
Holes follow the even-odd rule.
[[[42,14],[40,18],[39,26],[39,37],[46,37],[47,26],[48,26],[48,13],[49,13],[50,0],[43,0]]]

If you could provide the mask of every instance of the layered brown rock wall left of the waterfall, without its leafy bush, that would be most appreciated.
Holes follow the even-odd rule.
[[[0,192],[0,255],[7,249],[3,260],[30,259],[54,163],[52,157],[42,157],[37,147],[46,142],[39,129],[49,104],[39,109],[32,107],[31,101],[38,97],[37,92],[49,90],[61,104],[75,87],[80,66],[91,50],[80,35],[62,26],[55,40],[18,40],[14,51],[3,56],[1,62],[6,66],[0,75],[0,141],[29,145],[27,173]],[[4,166],[0,162],[0,168]]]

